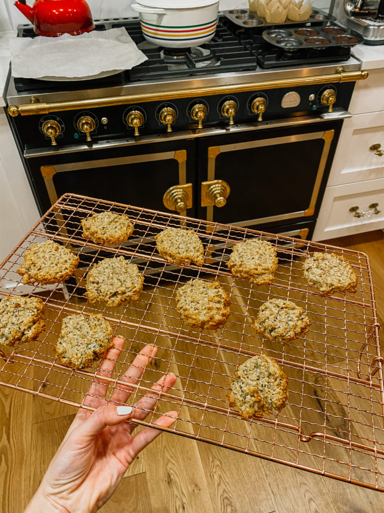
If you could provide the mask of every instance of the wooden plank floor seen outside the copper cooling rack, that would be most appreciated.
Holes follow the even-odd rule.
[[[327,243],[368,253],[384,324],[383,233]],[[75,411],[27,393],[0,390],[2,513],[22,513]],[[163,433],[139,455],[101,511],[382,513],[384,493]]]

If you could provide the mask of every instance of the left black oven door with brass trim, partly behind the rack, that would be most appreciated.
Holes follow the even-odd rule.
[[[162,143],[103,149],[34,152],[27,158],[31,184],[41,213],[64,193],[72,192],[153,210],[170,208],[175,188],[185,191],[183,215],[193,216],[195,142]],[[181,186],[181,187],[180,187]],[[166,198],[164,198],[164,194]],[[170,197],[170,199],[169,199]],[[164,203],[165,201],[165,203]],[[170,208],[171,209],[171,208]]]

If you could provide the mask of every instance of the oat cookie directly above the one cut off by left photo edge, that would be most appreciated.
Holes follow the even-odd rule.
[[[78,263],[79,257],[70,249],[49,240],[33,244],[17,272],[23,283],[59,283],[68,280]]]

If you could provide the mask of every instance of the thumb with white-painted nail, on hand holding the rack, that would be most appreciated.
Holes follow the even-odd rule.
[[[88,439],[94,438],[106,426],[116,426],[129,419],[131,413],[131,406],[100,406],[79,425],[77,435]]]

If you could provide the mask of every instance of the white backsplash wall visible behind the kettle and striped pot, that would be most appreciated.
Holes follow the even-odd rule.
[[[87,0],[91,7],[92,15],[98,18],[117,18],[126,16],[137,16],[130,5],[134,0]],[[26,18],[14,6],[14,0],[0,0],[0,32],[16,28],[20,23],[28,23]],[[180,0],[182,2],[182,0]],[[321,9],[328,9],[331,0],[312,0],[312,5]],[[33,0],[27,0],[29,5]],[[248,0],[220,0],[220,9],[234,9],[248,7]]]

